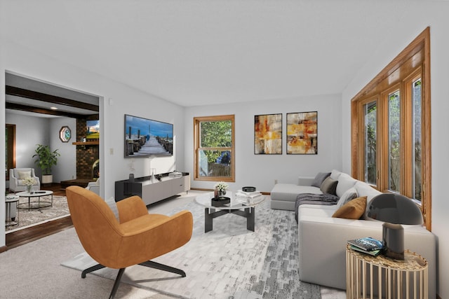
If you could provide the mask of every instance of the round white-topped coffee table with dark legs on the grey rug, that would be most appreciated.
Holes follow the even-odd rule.
[[[264,202],[265,197],[261,195],[256,197],[248,203],[242,203],[237,200],[236,195],[231,191],[227,191],[226,197],[229,197],[230,202],[222,207],[216,207],[212,205],[213,193],[204,193],[198,195],[194,202],[201,204],[204,207],[204,232],[210,232],[213,229],[213,218],[225,214],[236,214],[246,218],[246,229],[254,231],[255,227],[255,207],[257,204]],[[218,210],[218,211],[215,211]]]

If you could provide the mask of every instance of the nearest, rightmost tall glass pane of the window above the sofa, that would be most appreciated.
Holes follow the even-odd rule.
[[[421,200],[422,190],[422,151],[421,151],[421,78],[413,82],[413,189],[416,200]]]

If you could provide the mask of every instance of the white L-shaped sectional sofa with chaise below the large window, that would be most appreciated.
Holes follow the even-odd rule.
[[[333,170],[330,178],[337,180],[336,193],[341,197],[355,188],[358,197],[370,200],[380,192],[349,174]],[[272,209],[295,210],[297,195],[321,194],[310,186],[314,177],[300,177],[298,184],[278,183],[271,192]],[[300,279],[313,284],[346,289],[346,244],[349,239],[374,237],[382,239],[381,221],[333,218],[337,205],[302,204],[298,207],[298,245]],[[429,263],[429,298],[436,298],[436,237],[422,225],[403,225],[405,249],[415,251]]]

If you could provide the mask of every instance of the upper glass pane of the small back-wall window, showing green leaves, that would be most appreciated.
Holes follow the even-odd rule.
[[[200,147],[232,147],[232,121],[203,121],[200,123]]]

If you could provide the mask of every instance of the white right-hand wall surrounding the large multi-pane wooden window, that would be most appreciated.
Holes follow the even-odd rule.
[[[408,12],[401,15],[401,27],[391,28],[377,53],[361,69],[342,95],[343,106],[343,169],[351,168],[349,146],[350,100],[398,53],[415,39],[427,26],[431,32],[431,193],[432,232],[438,239],[438,281],[437,293],[449,298],[449,200],[447,180],[449,169],[449,13],[448,2],[413,2]]]

